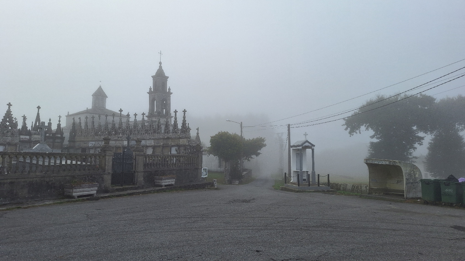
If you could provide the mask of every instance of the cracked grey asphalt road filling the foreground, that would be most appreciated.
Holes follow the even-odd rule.
[[[465,210],[271,185],[0,211],[0,260],[465,260]]]

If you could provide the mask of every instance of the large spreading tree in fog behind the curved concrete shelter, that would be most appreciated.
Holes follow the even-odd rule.
[[[373,131],[370,138],[377,141],[370,142],[369,158],[402,161],[416,158],[412,153],[416,145],[423,145],[425,138],[419,134],[431,131],[431,122],[427,119],[431,118],[435,99],[428,95],[406,97],[397,95],[384,100],[384,95],[378,95],[365,102],[354,116],[344,119],[343,126],[351,136],[361,133],[362,128]],[[406,99],[399,101],[403,98]],[[399,102],[387,105],[395,101]],[[383,105],[386,106],[372,110]]]

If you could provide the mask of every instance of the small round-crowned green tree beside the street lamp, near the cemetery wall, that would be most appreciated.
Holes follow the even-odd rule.
[[[238,134],[222,131],[210,137],[210,147],[206,149],[206,152],[228,162],[232,176],[238,177],[241,153],[243,159],[250,161],[253,156],[258,157],[261,154],[260,150],[265,146],[265,138],[246,140]]]

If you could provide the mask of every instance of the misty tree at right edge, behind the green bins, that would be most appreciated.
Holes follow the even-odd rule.
[[[465,176],[465,142],[460,134],[465,127],[465,97],[458,95],[437,102],[432,123],[426,171],[434,178]]]

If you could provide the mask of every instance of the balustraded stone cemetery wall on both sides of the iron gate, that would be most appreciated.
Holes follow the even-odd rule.
[[[99,183],[97,193],[110,191],[113,151],[103,148],[102,153],[0,152],[0,204],[64,197],[63,185],[73,181]],[[175,185],[201,180],[201,154],[141,151],[134,149],[134,186],[152,187],[155,176],[176,176]]]

